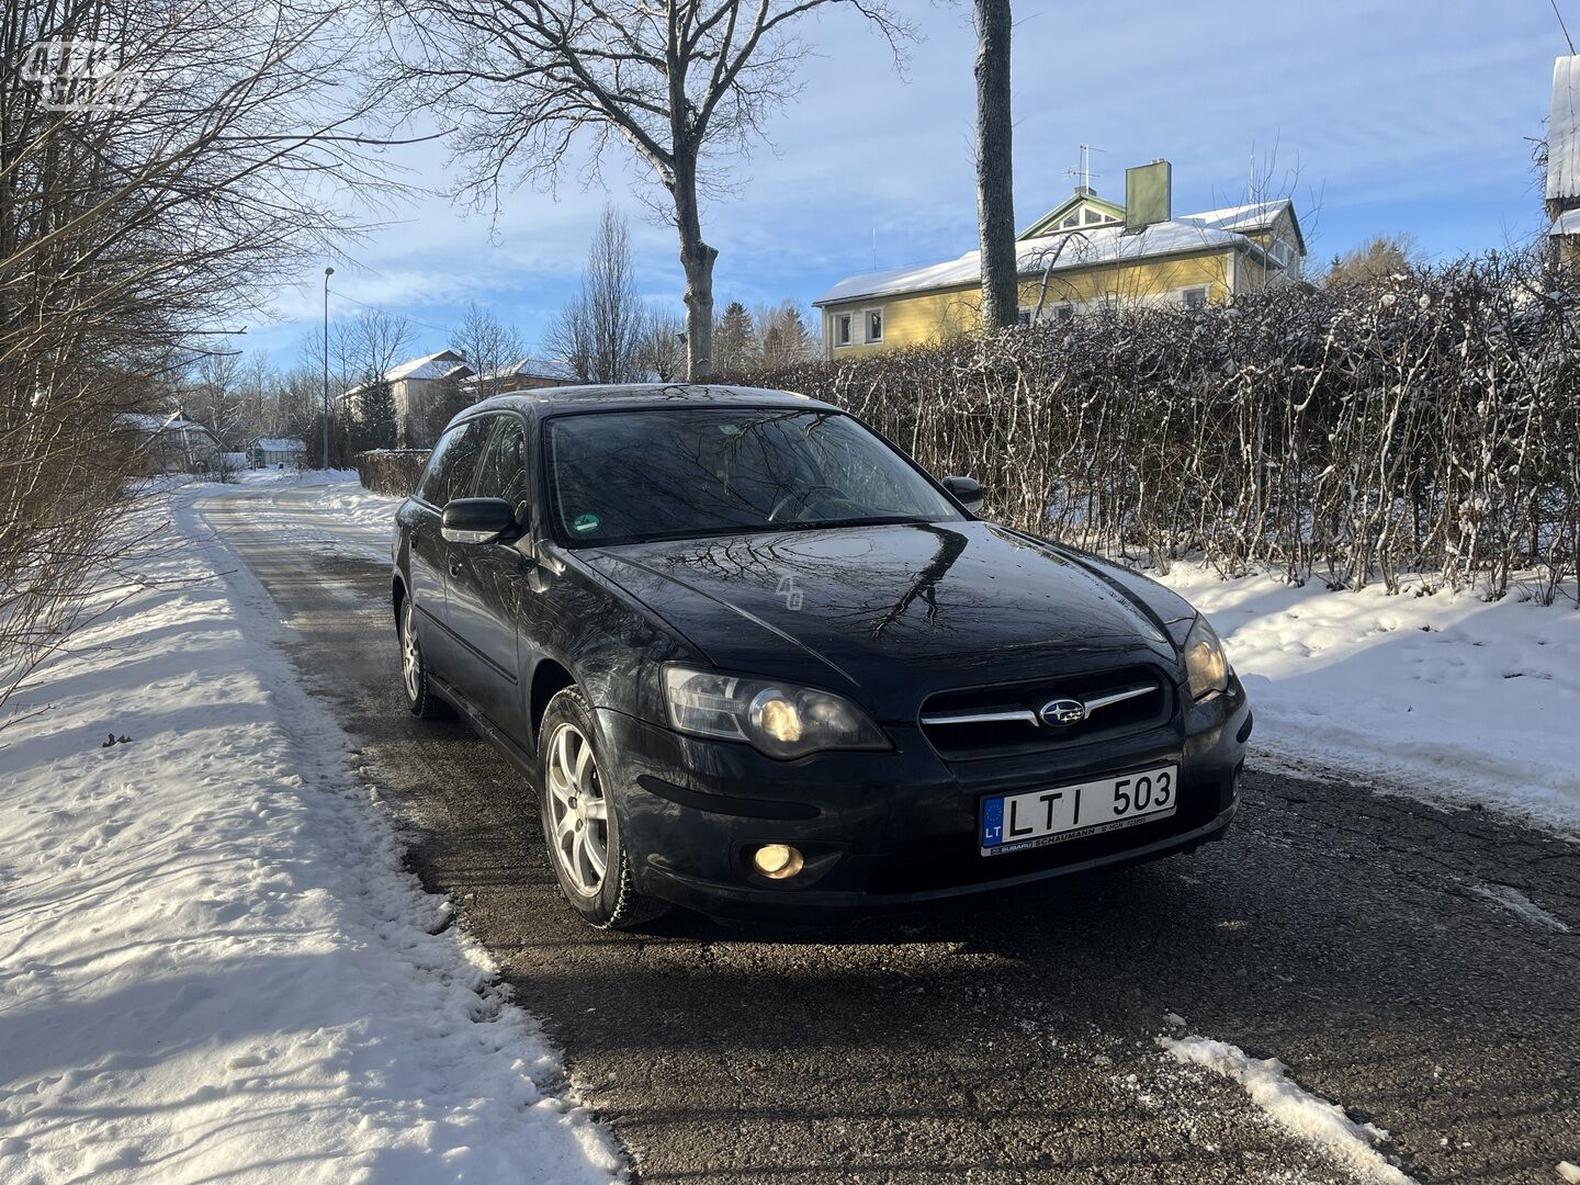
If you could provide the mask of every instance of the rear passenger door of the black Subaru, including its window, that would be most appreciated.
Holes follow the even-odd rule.
[[[406,578],[417,607],[417,637],[428,665],[439,675],[453,675],[455,646],[450,641],[447,611],[447,544],[441,534],[444,504],[471,487],[477,458],[491,425],[480,420],[458,423],[433,446],[428,468],[411,496],[406,528]]]

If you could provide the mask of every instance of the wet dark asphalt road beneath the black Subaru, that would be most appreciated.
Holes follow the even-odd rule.
[[[294,490],[202,514],[643,1182],[1356,1180],[1166,1059],[1185,1032],[1281,1059],[1420,1182],[1580,1163],[1571,841],[1253,760],[1231,837],[1191,856],[836,932],[597,934],[518,776],[406,714],[387,564],[346,553],[387,536]]]

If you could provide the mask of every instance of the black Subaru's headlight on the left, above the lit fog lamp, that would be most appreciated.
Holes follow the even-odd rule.
[[[850,700],[793,683],[665,667],[664,694],[678,732],[746,741],[769,757],[890,747],[883,732]]]

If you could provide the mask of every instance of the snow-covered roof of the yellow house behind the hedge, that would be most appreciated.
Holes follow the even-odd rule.
[[[1243,207],[1242,207],[1243,209]],[[1224,210],[1212,212],[1226,215]],[[1261,248],[1239,231],[1226,231],[1199,221],[1202,215],[1185,215],[1166,223],[1153,223],[1138,234],[1125,234],[1123,226],[1089,226],[1081,231],[1022,239],[1016,243],[1016,267],[1021,275],[1092,267],[1149,256],[1179,254],[1210,248],[1236,248],[1261,254]],[[924,292],[934,288],[975,284],[981,280],[981,251],[967,251],[957,259],[923,267],[901,267],[891,272],[842,280],[823,292],[814,305],[831,305],[858,297]]]

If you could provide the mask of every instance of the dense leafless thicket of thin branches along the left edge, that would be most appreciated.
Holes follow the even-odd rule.
[[[373,174],[327,0],[19,0],[0,46],[5,703],[134,542],[117,416],[167,404],[190,343],[234,340]]]

